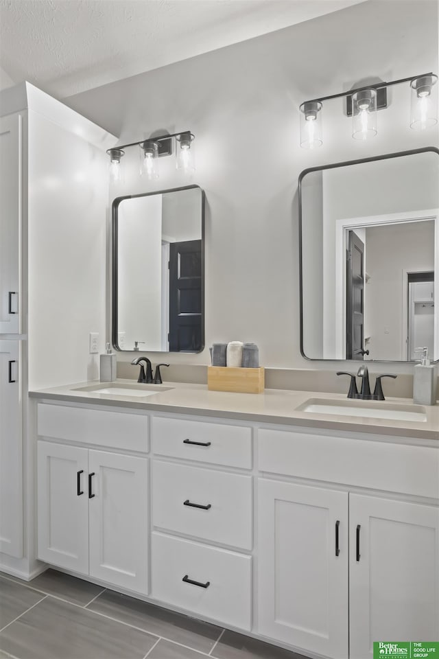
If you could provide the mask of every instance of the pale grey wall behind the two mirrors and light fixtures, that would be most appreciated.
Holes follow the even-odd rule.
[[[438,132],[408,128],[410,90],[394,86],[375,139],[353,140],[342,100],[333,100],[324,105],[324,145],[306,151],[298,146],[298,106],[370,76],[396,80],[437,70],[436,1],[370,0],[69,97],[120,143],[163,130],[195,135],[193,182],[206,191],[207,209],[206,349],[171,355],[172,362],[207,364],[213,341],[241,339],[259,343],[267,367],[340,367],[300,356],[298,175],[437,146]],[[173,161],[161,159],[158,183],[132,187],[183,185]]]

